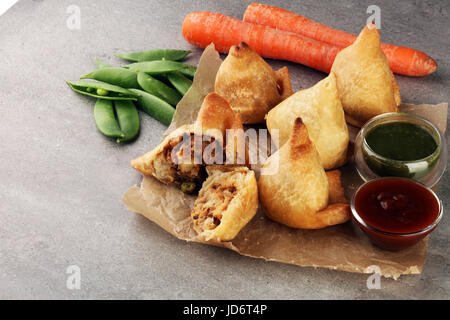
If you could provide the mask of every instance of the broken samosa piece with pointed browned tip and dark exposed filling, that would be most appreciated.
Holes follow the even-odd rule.
[[[225,163],[227,156],[233,157],[232,164],[245,165],[246,155],[238,160],[236,149],[226,150],[227,129],[236,130],[235,137],[232,136],[235,139],[239,133],[243,134],[239,115],[224,98],[210,93],[194,124],[177,128],[152,151],[132,160],[131,166],[165,184],[179,185],[187,193],[198,191],[206,178],[205,165]]]

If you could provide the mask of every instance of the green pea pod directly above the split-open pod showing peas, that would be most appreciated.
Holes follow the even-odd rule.
[[[81,76],[80,79],[94,79],[127,89],[140,88],[137,73],[121,67],[103,67]]]

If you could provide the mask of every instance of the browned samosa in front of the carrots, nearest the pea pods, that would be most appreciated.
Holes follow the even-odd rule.
[[[292,94],[286,67],[275,72],[246,43],[232,46],[217,72],[215,91],[244,124],[262,123],[270,109]]]

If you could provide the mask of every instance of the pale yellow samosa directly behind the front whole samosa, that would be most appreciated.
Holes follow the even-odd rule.
[[[306,125],[325,170],[340,167],[347,161],[348,128],[334,74],[309,89],[296,92],[270,110],[267,129],[272,137],[274,130],[278,130],[279,147],[289,139],[291,124],[297,117]]]

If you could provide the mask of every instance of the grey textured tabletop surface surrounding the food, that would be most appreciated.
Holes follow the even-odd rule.
[[[142,114],[140,138],[117,146],[93,119],[94,101],[72,92],[94,57],[151,48],[201,50],[181,35],[184,16],[211,10],[242,18],[249,1],[23,0],[0,17],[0,298],[403,299],[450,298],[450,218],[432,234],[421,275],[382,279],[300,268],[175,239],[127,211],[121,197],[140,181],[129,160],[156,145],[165,127]],[[280,1],[275,5],[352,33],[370,4],[381,8],[382,40],[434,57],[424,78],[397,76],[410,103],[450,100],[449,4],[442,1]],[[81,30],[69,30],[69,5]],[[287,65],[295,90],[324,74]],[[439,187],[450,205],[449,175]],[[319,253],[318,253],[319,254]],[[81,268],[81,290],[66,268]]]

